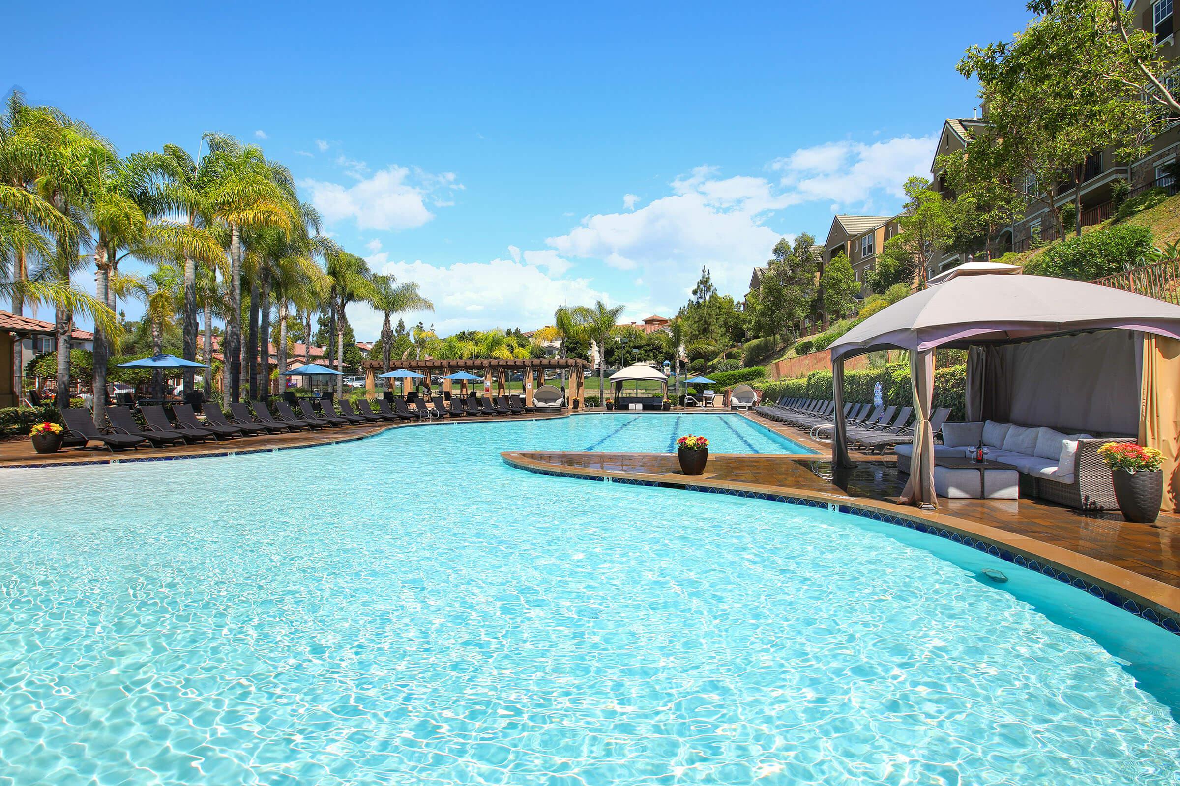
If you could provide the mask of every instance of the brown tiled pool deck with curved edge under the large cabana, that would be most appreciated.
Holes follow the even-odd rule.
[[[1153,609],[1166,627],[1180,623],[1180,519],[1125,522],[1117,513],[1082,513],[1042,500],[939,500],[937,511],[896,502],[904,484],[891,456],[854,455],[857,467],[833,473],[830,450],[799,431],[743,414],[760,425],[824,450],[818,456],[720,454],[703,475],[681,473],[674,454],[507,451],[520,469],[591,480],[650,483],[830,503],[922,522],[959,539],[994,544]],[[1018,564],[1021,562],[1017,562]],[[1145,614],[1143,616],[1149,615]]]

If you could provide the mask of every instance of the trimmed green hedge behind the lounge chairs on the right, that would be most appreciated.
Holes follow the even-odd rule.
[[[865,403],[873,399],[873,388],[881,383],[881,398],[886,404],[912,405],[909,363],[891,363],[883,369],[865,369],[844,374],[844,399]],[[779,379],[762,385],[763,401],[780,398],[832,398],[832,372],[812,371],[806,377]],[[950,407],[951,421],[966,417],[966,366],[952,365],[935,371],[935,407]]]

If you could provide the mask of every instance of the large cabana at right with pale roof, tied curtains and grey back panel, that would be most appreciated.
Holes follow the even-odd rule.
[[[968,420],[992,417],[989,407],[999,407],[1007,422],[1055,417],[1041,425],[1138,431],[1141,443],[1165,453],[1165,496],[1174,502],[1180,490],[1180,306],[1084,282],[975,270],[945,276],[838,338],[831,346],[833,462],[853,465],[844,362],[865,352],[909,350],[918,420],[902,501],[922,507],[937,507],[930,414],[938,348],[970,350]]]

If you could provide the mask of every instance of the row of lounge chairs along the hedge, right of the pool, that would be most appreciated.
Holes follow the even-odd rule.
[[[784,398],[778,404],[766,404],[755,410],[759,415],[796,429],[806,430],[813,440],[831,440],[835,432],[835,404],[832,401]],[[936,409],[930,427],[937,435],[951,410]],[[913,442],[913,408],[874,407],[847,403],[844,405],[847,443],[866,453],[885,453],[899,444]]]

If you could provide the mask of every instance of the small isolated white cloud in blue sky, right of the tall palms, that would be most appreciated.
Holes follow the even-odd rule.
[[[442,206],[447,203],[439,194],[445,197],[461,185],[453,174],[447,179],[393,165],[347,187],[322,180],[303,180],[300,187],[310,191],[312,204],[329,223],[353,218],[361,230],[406,230],[434,218],[426,202]]]

